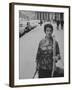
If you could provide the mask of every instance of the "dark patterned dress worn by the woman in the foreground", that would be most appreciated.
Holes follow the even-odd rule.
[[[60,54],[59,46],[55,44],[56,55]],[[41,40],[38,47],[36,62],[39,66],[39,78],[51,77],[53,67],[53,38]]]

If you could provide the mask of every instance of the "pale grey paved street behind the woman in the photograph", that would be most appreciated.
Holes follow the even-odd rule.
[[[45,24],[45,23],[44,23]],[[35,72],[35,59],[36,53],[38,49],[39,42],[42,38],[44,38],[45,33],[43,30],[43,26],[38,25],[34,30],[30,31],[29,33],[25,34],[23,37],[19,39],[19,57],[20,57],[20,79],[24,78],[32,78]],[[56,29],[56,24],[54,26],[54,35],[56,40],[59,43],[60,53],[61,53],[61,60],[57,63],[57,66],[63,68],[64,63],[64,30]]]

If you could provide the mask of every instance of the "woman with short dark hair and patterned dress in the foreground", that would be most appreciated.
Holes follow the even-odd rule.
[[[53,26],[46,24],[44,26],[45,38],[39,43],[36,56],[36,69],[39,78],[51,77],[53,71],[53,60],[55,63],[60,59],[58,42],[55,40],[55,56],[53,56]]]

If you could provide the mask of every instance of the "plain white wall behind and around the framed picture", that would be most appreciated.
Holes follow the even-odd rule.
[[[71,0],[0,0],[0,90],[10,90],[9,84],[9,2],[24,2],[24,3],[41,3],[41,4],[60,4],[70,5],[72,10]],[[71,11],[72,15],[72,11]],[[71,18],[72,21],[72,18]],[[71,63],[72,64],[72,63]],[[72,68],[72,67],[71,67]],[[72,75],[72,74],[71,74]],[[25,87],[14,88],[14,90],[71,90],[70,85],[56,85],[43,87]]]

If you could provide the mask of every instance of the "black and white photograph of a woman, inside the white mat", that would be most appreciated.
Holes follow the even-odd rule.
[[[19,45],[20,79],[64,77],[64,13],[20,10]]]

